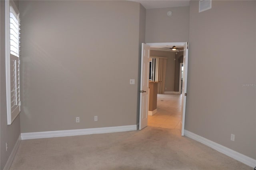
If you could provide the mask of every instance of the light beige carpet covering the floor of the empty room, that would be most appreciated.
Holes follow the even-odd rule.
[[[178,130],[22,140],[11,170],[252,170]]]

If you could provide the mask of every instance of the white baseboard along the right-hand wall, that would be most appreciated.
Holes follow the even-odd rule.
[[[185,130],[185,136],[194,139],[202,144],[205,144],[206,146],[209,146],[210,148],[213,148],[217,150],[218,152],[221,152],[222,154],[225,154],[235,160],[238,160],[252,168],[256,166],[256,160],[252,159],[248,156],[245,156],[244,154],[240,154],[239,152],[236,152],[230,148],[227,148],[225,146],[222,146],[220,144],[217,144],[216,142],[212,142],[211,140],[208,140],[202,136],[199,136],[197,134],[194,134],[192,132],[189,132],[188,130]]]

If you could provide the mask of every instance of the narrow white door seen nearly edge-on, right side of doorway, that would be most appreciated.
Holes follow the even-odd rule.
[[[187,79],[188,79],[188,42],[184,44],[183,55],[183,78],[182,78],[182,103],[181,103],[181,136],[184,136],[185,112],[187,97]]]

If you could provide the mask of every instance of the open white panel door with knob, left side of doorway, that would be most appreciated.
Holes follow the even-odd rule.
[[[140,125],[139,130],[148,126],[148,78],[149,78],[150,46],[142,43],[140,72]]]

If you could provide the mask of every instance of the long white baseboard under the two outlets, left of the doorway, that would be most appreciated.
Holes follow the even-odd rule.
[[[89,128],[89,129],[76,129],[76,130],[59,130],[59,131],[49,131],[49,132],[32,132],[32,133],[22,133],[21,139],[40,139],[40,138],[54,138],[54,137],[64,137],[64,136],[78,136],[86,134],[103,134],[112,132],[126,132],[137,130],[137,125],[129,126],[114,126],[106,128]]]

